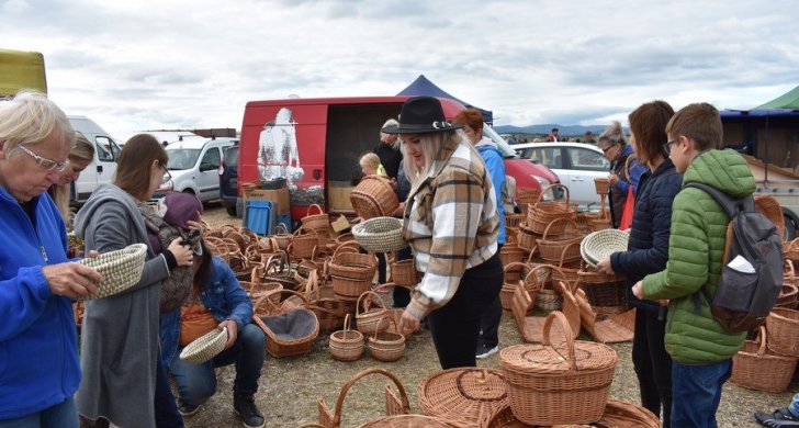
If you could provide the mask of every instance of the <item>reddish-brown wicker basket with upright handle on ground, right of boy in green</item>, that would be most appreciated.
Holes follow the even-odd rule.
[[[779,394],[788,388],[797,358],[767,351],[766,336],[766,328],[761,326],[759,340],[746,340],[732,357],[730,382],[750,390]]]

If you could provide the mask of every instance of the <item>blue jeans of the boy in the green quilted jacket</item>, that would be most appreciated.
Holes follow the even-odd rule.
[[[713,364],[672,363],[672,427],[716,428],[721,387],[732,374],[732,359]]]

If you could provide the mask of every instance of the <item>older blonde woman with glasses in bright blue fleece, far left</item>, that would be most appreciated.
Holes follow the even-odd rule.
[[[67,230],[45,191],[69,164],[75,131],[45,95],[0,108],[0,427],[77,427],[80,382],[72,297],[102,277],[67,259]]]

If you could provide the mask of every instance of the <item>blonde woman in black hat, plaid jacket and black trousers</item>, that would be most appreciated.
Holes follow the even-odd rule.
[[[476,365],[480,320],[502,289],[499,218],[491,178],[460,125],[431,97],[408,99],[400,124],[412,183],[404,235],[425,272],[402,315],[404,331],[427,317],[442,369]]]

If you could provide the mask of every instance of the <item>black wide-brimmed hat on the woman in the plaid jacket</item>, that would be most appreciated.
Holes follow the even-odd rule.
[[[454,131],[462,125],[447,121],[441,102],[432,97],[412,97],[400,112],[400,125],[380,129],[385,134],[429,134]]]

